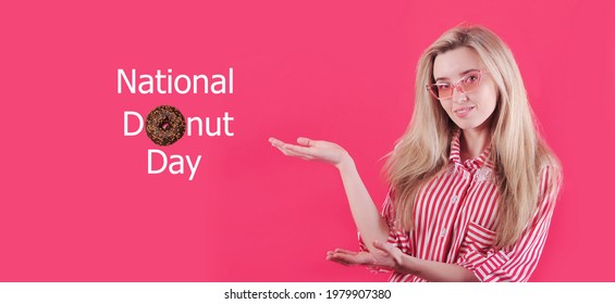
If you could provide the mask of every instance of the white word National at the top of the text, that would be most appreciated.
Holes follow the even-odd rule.
[[[233,67],[229,67],[227,74],[199,75],[173,75],[173,69],[167,69],[162,74],[160,69],[155,75],[137,73],[132,68],[130,75],[123,68],[118,68],[118,93],[121,94],[126,88],[131,93],[142,94],[170,94],[177,92],[186,93],[233,93]]]

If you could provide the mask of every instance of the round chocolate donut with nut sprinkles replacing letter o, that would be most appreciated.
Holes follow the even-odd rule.
[[[171,105],[160,105],[147,114],[147,136],[158,145],[173,144],[184,136],[185,130],[184,115]]]

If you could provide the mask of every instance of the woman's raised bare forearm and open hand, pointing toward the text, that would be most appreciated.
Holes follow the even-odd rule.
[[[297,143],[302,145],[284,143],[275,138],[270,138],[269,142],[285,155],[333,164],[340,172],[355,225],[368,249],[373,250],[373,241],[386,241],[389,226],[373,204],[355,162],[342,147],[303,137],[297,139]]]

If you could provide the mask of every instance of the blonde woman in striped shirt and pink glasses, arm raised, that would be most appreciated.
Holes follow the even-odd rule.
[[[270,139],[285,155],[340,170],[361,251],[327,258],[392,269],[392,281],[527,281],[562,179],[511,50],[484,27],[452,28],[422,54],[416,88],[410,125],[386,162],[382,214],[340,145]]]

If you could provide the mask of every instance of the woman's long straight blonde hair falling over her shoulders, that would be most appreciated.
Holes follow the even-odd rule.
[[[444,33],[421,55],[416,77],[415,110],[408,129],[386,161],[395,216],[401,227],[414,228],[414,206],[421,186],[448,165],[451,137],[457,126],[426,85],[433,83],[439,54],[467,47],[476,51],[497,87],[491,123],[491,154],[500,190],[494,246],[514,244],[537,210],[540,169],[550,165],[559,177],[559,162],[538,132],[519,68],[508,47],[481,26],[460,25]]]

